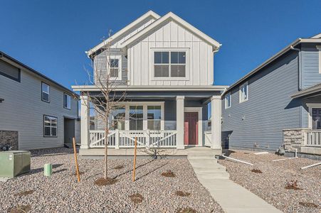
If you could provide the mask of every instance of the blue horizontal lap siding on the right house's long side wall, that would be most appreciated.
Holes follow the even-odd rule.
[[[239,103],[239,85],[231,91],[231,107],[222,102],[222,141],[230,148],[275,150],[283,143],[283,129],[299,128],[298,53],[290,51],[248,79],[248,101]]]

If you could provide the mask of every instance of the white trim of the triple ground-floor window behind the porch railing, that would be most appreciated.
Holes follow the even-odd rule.
[[[160,106],[161,107],[161,131],[164,130],[164,102],[117,102],[119,106],[125,106],[125,131],[130,131],[130,106],[143,107],[143,128],[142,131],[147,130],[147,107]]]

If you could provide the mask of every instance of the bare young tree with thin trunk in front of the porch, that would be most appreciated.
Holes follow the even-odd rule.
[[[88,74],[88,82],[90,85],[95,86],[98,92],[90,94],[90,92],[82,92],[82,95],[88,97],[86,107],[90,111],[94,111],[98,121],[102,121],[102,125],[105,131],[105,173],[104,178],[107,180],[107,148],[108,148],[108,134],[110,130],[117,128],[117,123],[110,119],[112,111],[119,109],[120,102],[125,100],[126,91],[117,92],[117,87],[120,83],[115,81],[118,75],[122,75],[120,69],[119,60],[117,60],[112,54],[112,48],[110,43],[112,42],[111,31],[108,33],[108,38],[103,40],[105,46],[102,48],[102,53],[105,61],[105,65],[98,64],[98,60],[93,60],[92,68],[93,71],[85,69]],[[118,118],[118,121],[123,118]]]

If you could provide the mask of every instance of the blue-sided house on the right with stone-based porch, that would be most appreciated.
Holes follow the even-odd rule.
[[[223,146],[321,153],[320,83],[321,34],[295,40],[224,92]]]

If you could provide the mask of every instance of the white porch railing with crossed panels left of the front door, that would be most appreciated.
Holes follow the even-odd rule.
[[[105,147],[105,131],[90,130],[90,148]],[[177,131],[123,131],[108,133],[108,146],[113,148],[132,148],[137,137],[138,147],[176,147]]]

